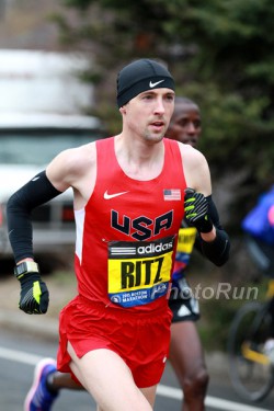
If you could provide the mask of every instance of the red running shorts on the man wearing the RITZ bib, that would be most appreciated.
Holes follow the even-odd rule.
[[[137,387],[151,387],[164,369],[171,318],[168,306],[133,313],[77,296],[60,312],[57,368],[77,381],[69,367],[68,341],[79,358],[92,350],[109,349],[128,365]]]

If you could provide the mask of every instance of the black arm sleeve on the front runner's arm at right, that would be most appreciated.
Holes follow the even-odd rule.
[[[208,202],[208,215],[216,228],[216,239],[214,241],[204,241],[201,236],[197,236],[195,247],[215,265],[224,265],[229,259],[230,240],[221,227],[219,221],[218,210],[212,196],[206,197]]]

